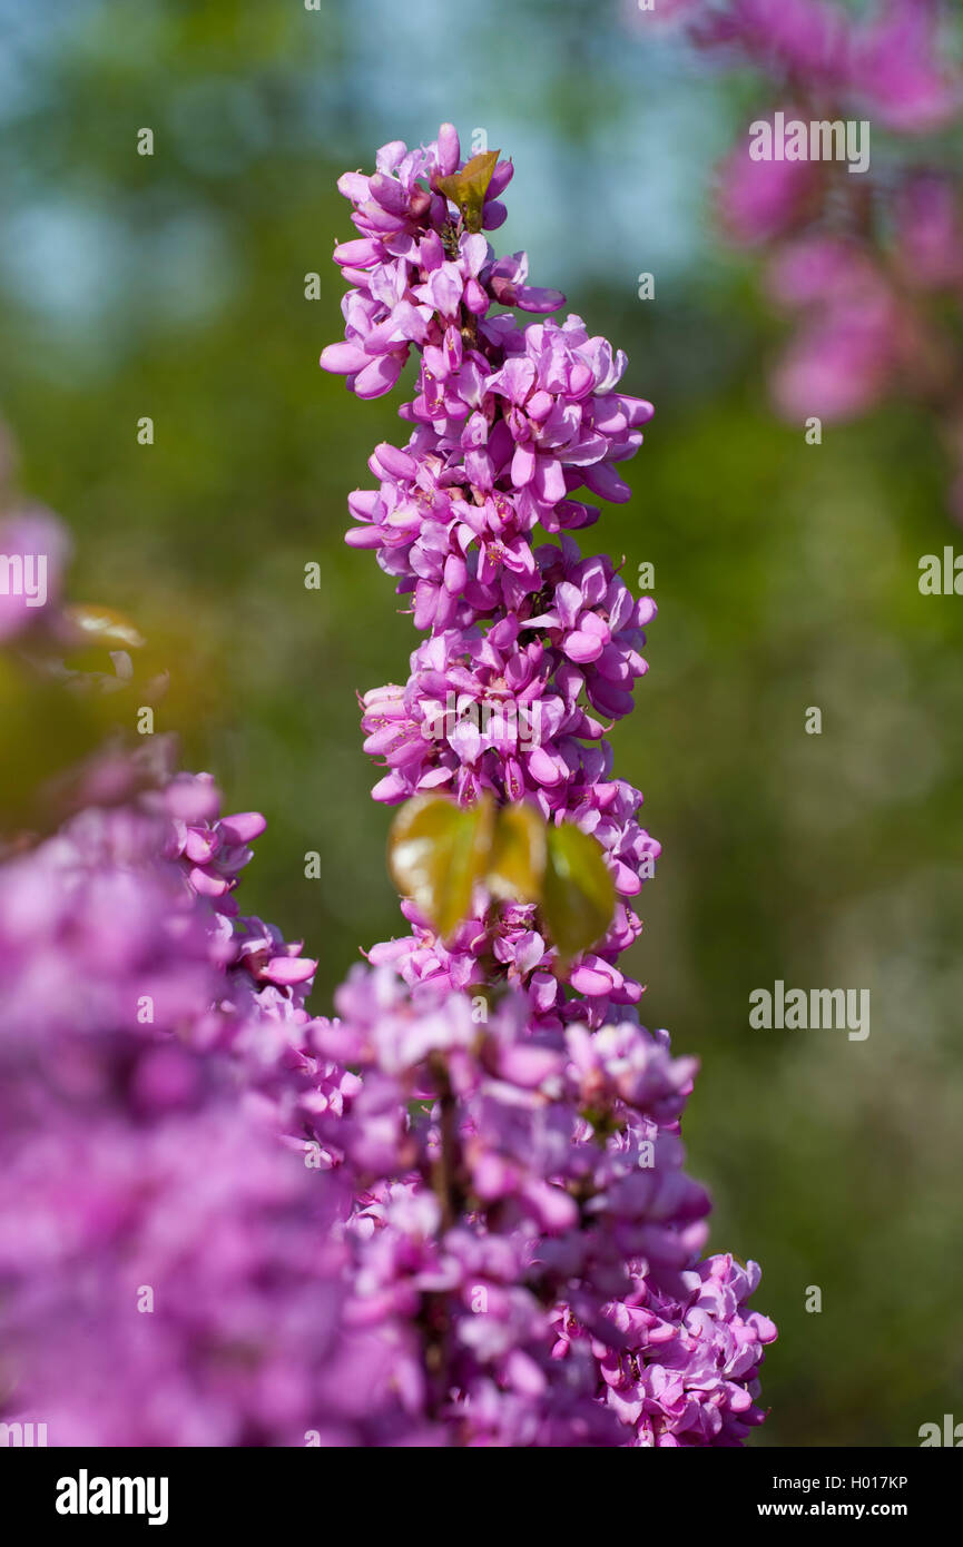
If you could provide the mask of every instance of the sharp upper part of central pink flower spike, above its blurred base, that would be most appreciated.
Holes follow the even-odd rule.
[[[415,398],[401,410],[412,438],[403,449],[379,446],[370,461],[378,489],[348,501],[359,523],[348,541],[375,548],[429,634],[407,685],[364,698],[365,750],[387,764],[375,798],[435,791],[469,803],[492,791],[533,800],[599,838],[622,900],[607,939],[568,976],[585,1004],[567,1006],[533,908],[468,925],[454,948],[407,908],[407,948],[372,959],[387,950],[409,982],[430,975],[461,985],[483,981],[494,948],[506,976],[529,989],[533,1012],[598,1024],[641,993],[616,958],[638,934],[627,899],[660,846],[636,821],[638,791],[612,777],[604,738],[632,709],[655,605],[635,600],[610,560],[582,558],[570,534],[598,518],[581,492],[629,497],[616,464],[641,446],[652,405],[618,390],[624,353],[590,337],[579,317],[519,325],[492,311],[557,309],[564,297],[523,283],[525,254],[495,258],[482,235],[461,229],[435,190],[458,156],[443,125],[437,144],[386,147],[375,178],[339,184],[364,240],[334,252],[355,288],[345,343],[320,362],[367,396],[399,374],[401,364],[376,368],[386,350],[395,362],[412,345],[420,356]],[[509,175],[499,162],[491,187],[500,192]],[[534,546],[536,526],[560,534],[559,543]]]

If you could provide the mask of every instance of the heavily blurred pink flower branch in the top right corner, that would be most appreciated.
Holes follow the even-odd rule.
[[[718,169],[726,235],[765,251],[763,285],[791,323],[773,371],[794,422],[844,421],[895,396],[935,408],[963,469],[963,398],[948,312],[963,312],[960,179],[934,136],[963,116],[963,68],[941,0],[684,0],[673,14],[700,50],[768,79],[754,119],[865,121],[870,166],[752,159],[751,138]],[[963,472],[952,504],[963,520]]]

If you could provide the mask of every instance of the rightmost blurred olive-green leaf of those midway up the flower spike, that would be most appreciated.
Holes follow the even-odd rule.
[[[542,914],[564,964],[599,941],[615,913],[615,883],[599,842],[571,821],[548,828]]]

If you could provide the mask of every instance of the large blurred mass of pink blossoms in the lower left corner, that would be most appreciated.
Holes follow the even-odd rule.
[[[215,792],[166,798],[207,821]],[[152,804],[91,806],[0,868],[0,1417],[50,1445],[375,1442],[338,1397],[338,1179],[197,1050],[280,1069],[300,1012],[259,1002],[172,857],[184,817]]]

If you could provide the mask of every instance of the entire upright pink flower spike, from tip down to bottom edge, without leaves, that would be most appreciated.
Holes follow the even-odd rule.
[[[427,636],[406,684],[364,695],[365,752],[386,767],[373,797],[531,801],[598,838],[619,902],[562,967],[534,905],[478,900],[443,942],[404,900],[412,934],[375,945],[342,1019],[311,1029],[328,1067],[361,1072],[316,1122],[320,1151],[364,1180],[351,1315],[416,1315],[426,1363],[396,1383],[461,1443],[740,1443],[776,1329],[746,1310],[752,1264],[700,1261],[709,1200],[677,1134],[695,1066],[638,1026],[641,985],[618,965],[660,846],[607,732],[632,709],[655,605],[571,535],[599,514],[582,495],[629,498],[616,467],[652,407],[579,317],[492,309],[562,297],[466,229],[446,198],[460,166],[443,125],[339,184],[362,238],[334,252],[345,342],[320,364],[365,398],[418,356],[410,439],[378,446],[378,487],[348,500],[347,541],[376,552]]]

